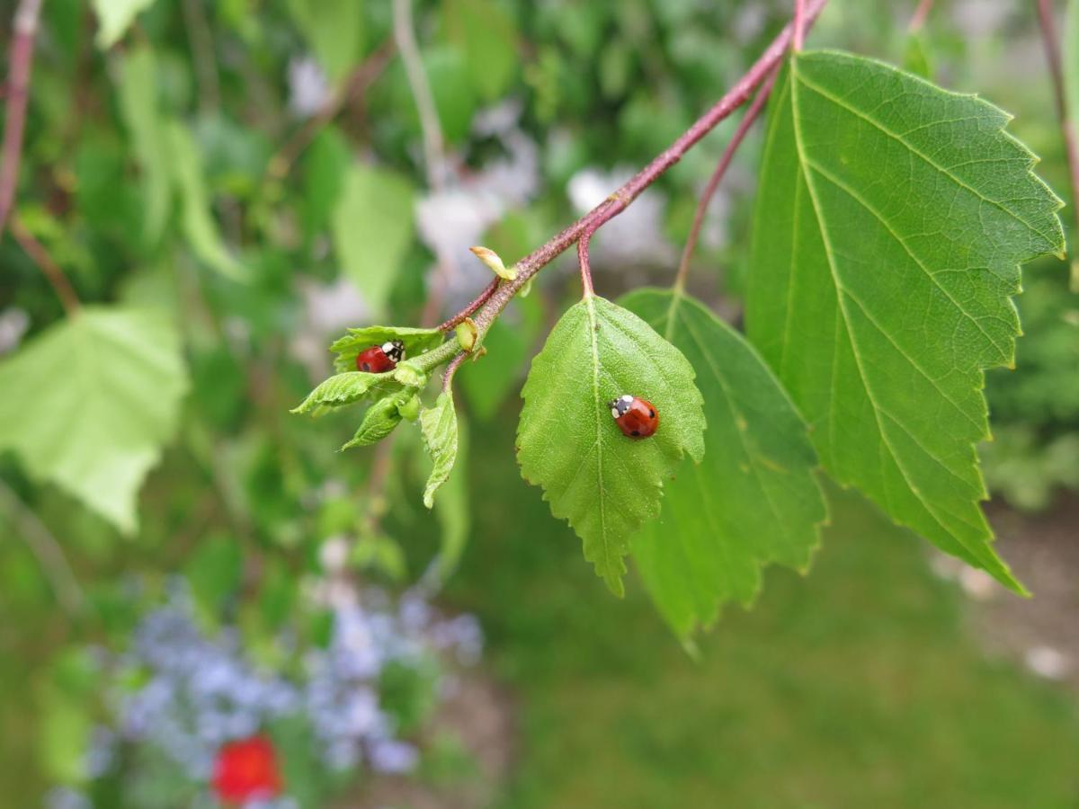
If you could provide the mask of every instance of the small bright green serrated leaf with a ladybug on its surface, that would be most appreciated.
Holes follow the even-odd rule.
[[[659,515],[663,480],[684,454],[705,452],[705,415],[693,367],[644,320],[589,296],[555,326],[532,360],[521,395],[517,458],[544,488],[550,510],[584,540],[585,558],[623,593],[629,538]],[[623,394],[651,401],[659,429],[627,438],[607,402]]]

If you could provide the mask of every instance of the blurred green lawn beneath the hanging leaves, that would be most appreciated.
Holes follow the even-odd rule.
[[[511,435],[474,442],[450,593],[520,709],[503,809],[1079,806],[1076,702],[985,659],[925,545],[858,496],[830,493],[809,576],[768,572],[694,661],[639,584],[612,598],[522,491]]]

